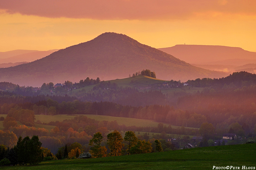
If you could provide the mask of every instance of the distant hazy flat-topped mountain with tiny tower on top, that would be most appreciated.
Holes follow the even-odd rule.
[[[255,63],[256,59],[255,52],[238,47],[175,45],[158,49],[191,64],[244,65]]]

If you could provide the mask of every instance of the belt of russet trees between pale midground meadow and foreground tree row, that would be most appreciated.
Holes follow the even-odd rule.
[[[37,123],[41,122],[37,121]],[[200,129],[185,128],[183,126],[181,128],[172,128],[172,126],[165,126],[163,123],[159,123],[157,127],[126,127],[125,125],[119,125],[116,121],[96,121],[83,115],[76,116],[74,119],[64,120],[63,122],[49,122],[47,125],[52,125],[50,131],[44,128],[18,125],[12,117],[6,117],[3,121],[3,125],[6,130],[0,130],[0,144],[13,147],[17,141],[17,136],[24,138],[27,135],[38,135],[42,142],[42,146],[50,149],[54,154],[58,152],[59,147],[67,143],[78,142],[83,146],[88,147],[88,144],[95,133],[100,132],[103,137],[107,137],[107,134],[115,129],[120,132],[129,130],[139,131],[137,135],[138,139],[163,139],[162,144],[167,139],[176,138],[178,144],[182,147],[192,140],[191,137],[187,135],[201,135],[206,138],[207,141],[209,139],[212,139],[211,141],[213,141],[214,139],[222,138],[223,133],[236,133],[239,136],[244,133],[243,127],[237,122],[228,126],[228,131],[222,132],[221,127],[218,126],[217,129],[215,129],[211,123],[202,123]],[[42,125],[45,125],[45,123],[42,123]],[[149,134],[149,132],[151,132],[151,134]],[[255,133],[251,134],[251,136],[247,135],[247,139],[250,139],[250,137],[255,137]],[[164,147],[164,149],[166,148]]]

